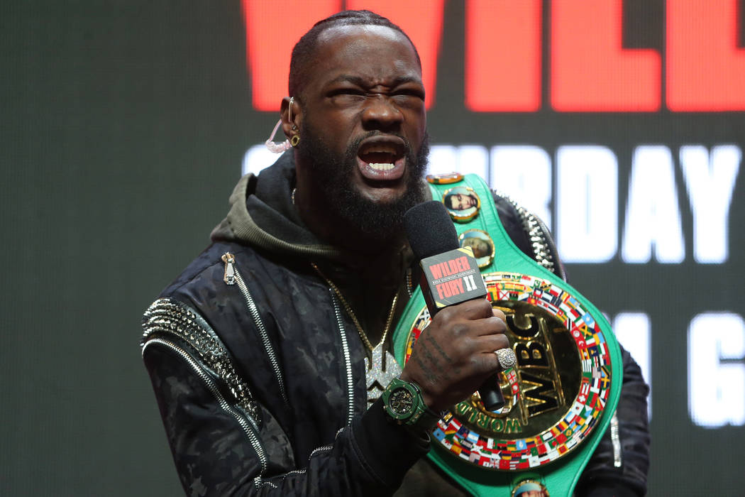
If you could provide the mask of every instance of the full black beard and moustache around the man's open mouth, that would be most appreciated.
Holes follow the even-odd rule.
[[[357,151],[360,143],[381,134],[380,131],[370,131],[359,136],[349,144],[343,155],[333,152],[314,130],[301,125],[298,155],[305,164],[311,166],[314,178],[314,188],[323,196],[329,209],[347,224],[357,227],[367,238],[388,240],[399,235],[402,229],[404,214],[408,209],[425,200],[425,185],[422,182],[427,168],[429,155],[429,137],[425,133],[422,145],[416,153],[411,144],[403,136],[406,146],[406,189],[401,197],[390,202],[375,202],[364,197],[352,184],[357,165]],[[394,133],[395,134],[395,133]]]

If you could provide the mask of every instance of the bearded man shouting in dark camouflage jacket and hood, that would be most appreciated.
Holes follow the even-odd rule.
[[[143,321],[142,354],[183,487],[194,496],[466,495],[424,458],[428,431],[435,412],[498,370],[504,314],[486,300],[451,306],[405,366],[390,354],[415,281],[402,218],[429,200],[416,48],[381,16],[338,13],[295,46],[288,89],[291,148],[241,178],[212,244]],[[530,250],[516,210],[497,201]],[[634,410],[644,412],[646,385],[626,359]],[[416,420],[393,420],[384,406],[379,379],[394,377],[410,387]],[[644,492],[646,420],[629,426],[637,438],[624,443],[641,462],[619,469],[599,455],[587,491]]]

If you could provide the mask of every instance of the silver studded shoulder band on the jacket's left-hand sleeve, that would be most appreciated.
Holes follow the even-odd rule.
[[[177,300],[158,299],[142,317],[142,341],[171,335],[185,341],[200,356],[201,361],[227,385],[238,406],[253,420],[260,422],[259,406],[253,400],[246,382],[238,376],[230,356],[212,327],[192,308]]]

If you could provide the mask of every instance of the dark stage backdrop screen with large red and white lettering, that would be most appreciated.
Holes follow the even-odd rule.
[[[139,316],[209,242],[312,23],[408,31],[431,170],[553,229],[652,387],[650,495],[745,485],[745,2],[24,1],[0,7],[2,495],[179,495]]]

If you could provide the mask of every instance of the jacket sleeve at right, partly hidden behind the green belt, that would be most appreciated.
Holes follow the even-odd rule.
[[[513,243],[527,256],[562,279],[565,270],[548,228],[508,197],[494,194],[499,219]],[[643,496],[647,493],[650,434],[647,421],[649,387],[638,364],[621,347],[624,383],[611,425],[583,471],[577,497]]]

